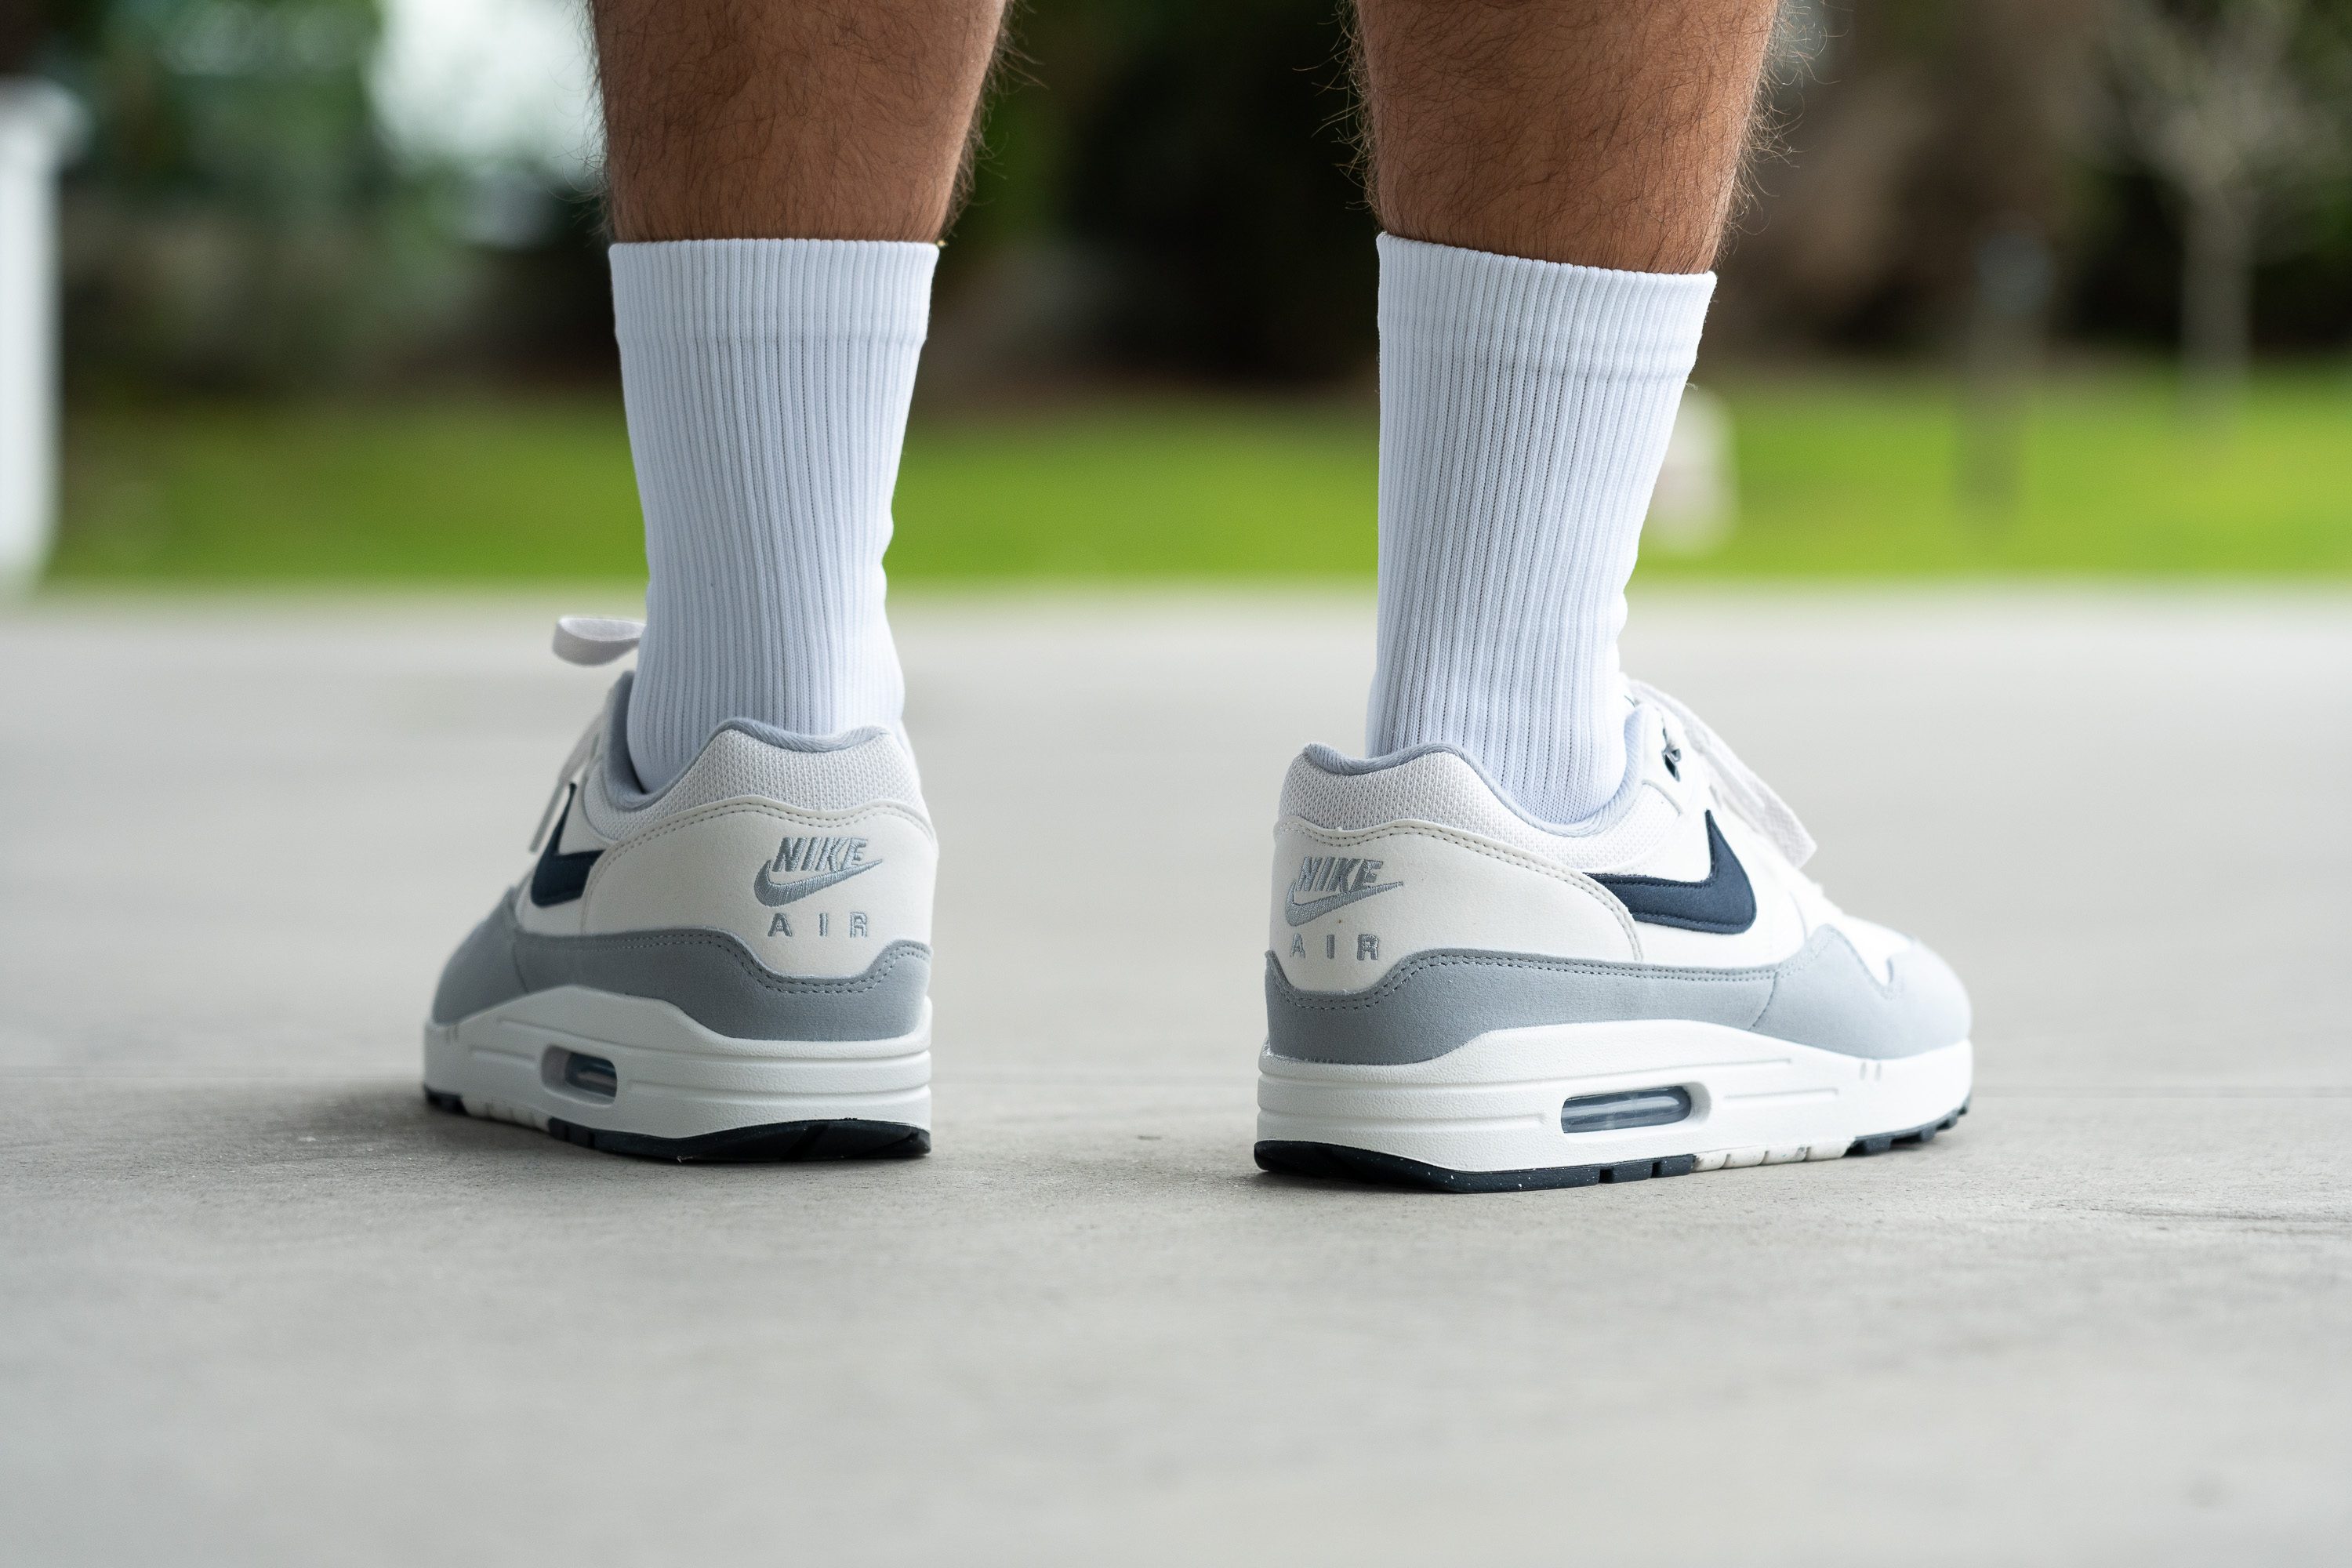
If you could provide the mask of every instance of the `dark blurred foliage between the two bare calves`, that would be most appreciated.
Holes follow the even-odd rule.
[[[1338,0],[1023,5],[948,287],[997,313],[1061,308],[1065,341],[1134,371],[1364,367],[1376,226],[1345,16]]]

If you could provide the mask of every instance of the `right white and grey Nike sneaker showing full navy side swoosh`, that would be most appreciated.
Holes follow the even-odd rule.
[[[1463,752],[1308,748],[1275,827],[1258,1164],[1451,1192],[1926,1143],[1969,1107],[1969,994],[1797,872],[1813,842],[1635,684],[1573,827]]]

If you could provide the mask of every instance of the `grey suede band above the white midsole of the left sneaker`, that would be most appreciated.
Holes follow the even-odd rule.
[[[931,950],[891,943],[840,980],[781,976],[727,931],[539,936],[501,900],[449,959],[433,1020],[454,1023],[527,992],[586,985],[668,1001],[736,1039],[891,1039],[922,1023]]]

